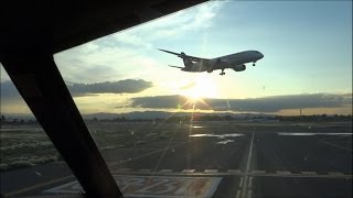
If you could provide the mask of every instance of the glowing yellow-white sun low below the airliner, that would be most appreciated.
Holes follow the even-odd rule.
[[[191,100],[201,100],[203,98],[216,98],[217,88],[212,78],[200,76],[192,79],[189,85],[184,86],[181,95],[186,96]]]

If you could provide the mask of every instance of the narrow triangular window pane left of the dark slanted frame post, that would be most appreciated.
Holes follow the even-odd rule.
[[[74,178],[2,65],[0,90],[1,196],[40,195],[45,185]]]

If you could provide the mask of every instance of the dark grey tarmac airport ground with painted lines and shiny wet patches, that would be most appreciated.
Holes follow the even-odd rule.
[[[101,153],[127,197],[352,197],[351,122],[121,124]],[[4,197],[81,191],[64,162],[1,173]]]

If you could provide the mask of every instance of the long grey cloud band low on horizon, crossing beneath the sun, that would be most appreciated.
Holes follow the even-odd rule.
[[[237,111],[237,112],[279,112],[285,109],[304,108],[339,108],[352,106],[352,94],[306,94],[274,96],[249,99],[204,99],[196,101],[195,106],[188,97],[183,96],[157,96],[140,97],[131,99],[131,107],[152,109],[200,109],[214,111]]]

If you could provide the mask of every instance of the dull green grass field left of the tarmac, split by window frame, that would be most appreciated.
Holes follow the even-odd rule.
[[[159,128],[152,123],[95,123],[88,124],[88,129],[100,151],[133,146],[171,135],[170,127]],[[0,141],[1,172],[61,161],[41,127],[2,127]]]

